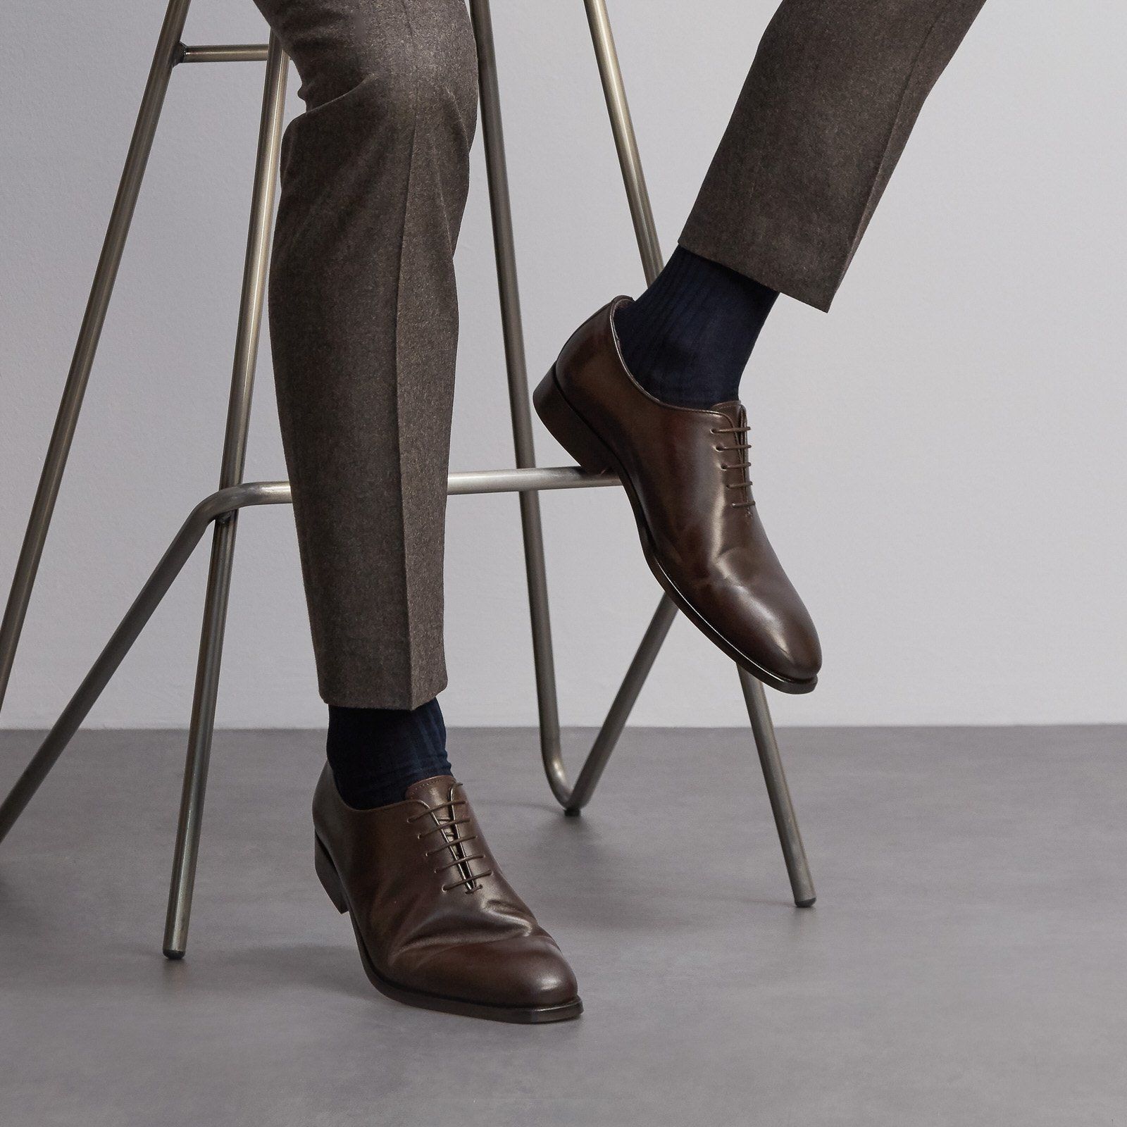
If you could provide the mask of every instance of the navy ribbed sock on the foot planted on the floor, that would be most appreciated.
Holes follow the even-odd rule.
[[[411,783],[451,773],[437,700],[417,709],[330,704],[326,751],[340,797],[360,810],[401,802]]]

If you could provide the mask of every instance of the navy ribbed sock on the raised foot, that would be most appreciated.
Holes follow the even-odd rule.
[[[614,314],[622,358],[651,396],[712,407],[739,394],[739,378],[778,291],[683,247],[654,284]]]

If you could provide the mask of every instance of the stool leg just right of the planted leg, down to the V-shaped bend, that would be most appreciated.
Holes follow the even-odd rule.
[[[497,55],[494,50],[492,17],[489,0],[470,0],[470,16],[478,48],[478,85],[481,92],[481,135],[486,174],[489,180],[489,208],[492,219],[494,252],[497,259],[497,286],[500,295],[502,332],[505,341],[505,370],[508,376],[508,403],[513,424],[513,444],[520,468],[536,464],[532,437],[532,407],[529,401],[529,371],[525,360],[521,294],[516,279],[516,252],[513,242],[513,213],[505,163],[505,135],[502,126],[500,92],[497,86]],[[536,677],[536,706],[540,719],[540,754],[552,789],[567,793],[560,747],[559,699],[556,690],[556,659],[548,606],[548,577],[544,565],[544,536],[540,518],[540,495],[520,495],[521,531],[524,539],[524,570],[529,588],[529,614],[532,623],[532,659]],[[558,782],[562,790],[557,789]]]

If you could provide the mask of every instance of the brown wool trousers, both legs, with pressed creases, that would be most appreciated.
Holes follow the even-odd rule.
[[[269,314],[320,691],[415,708],[446,683],[472,28],[463,0],[255,2],[307,107],[283,140]],[[827,309],[984,2],[783,0],[681,245]]]

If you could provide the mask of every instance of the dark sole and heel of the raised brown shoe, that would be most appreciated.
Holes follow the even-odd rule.
[[[630,507],[633,509],[635,521],[638,525],[638,536],[641,541],[642,556],[649,565],[654,578],[657,579],[662,589],[673,600],[678,611],[689,619],[718,649],[745,669],[752,676],[778,689],[783,693],[795,695],[808,693],[818,683],[817,677],[808,681],[796,681],[791,677],[780,676],[770,669],[764,669],[746,654],[733,646],[727,638],[713,627],[693,604],[681,593],[677,585],[666,574],[662,567],[662,561],[657,557],[654,548],[654,536],[646,523],[646,516],[635,491],[633,482],[630,480],[622,463],[614,452],[598,437],[591,424],[584,419],[576,407],[564,393],[559,378],[556,374],[553,364],[548,374],[540,381],[536,390],[532,393],[532,402],[536,408],[540,420],[548,427],[556,441],[576,460],[576,462],[591,473],[614,472],[622,482]]]

